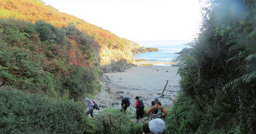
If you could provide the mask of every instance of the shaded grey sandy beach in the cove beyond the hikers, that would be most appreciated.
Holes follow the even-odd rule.
[[[148,64],[148,62],[144,62]],[[152,64],[152,63],[150,63]],[[155,64],[160,64],[156,62]],[[161,63],[164,64],[164,63]],[[145,106],[150,106],[153,101],[153,95],[157,94],[162,105],[170,107],[177,98],[178,68],[171,65],[153,65],[153,66],[134,66],[124,72],[106,73],[105,88],[95,96],[95,101],[101,106],[101,109],[120,108],[121,99],[119,94],[130,98],[131,106],[128,108],[135,111],[135,96],[140,96]],[[163,88],[169,80],[161,97]]]

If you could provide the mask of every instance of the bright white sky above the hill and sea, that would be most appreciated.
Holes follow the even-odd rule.
[[[192,40],[202,21],[199,0],[43,0],[120,38]]]

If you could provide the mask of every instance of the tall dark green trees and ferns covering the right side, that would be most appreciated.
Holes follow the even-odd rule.
[[[256,2],[209,1],[198,38],[179,57],[169,133],[256,133]]]

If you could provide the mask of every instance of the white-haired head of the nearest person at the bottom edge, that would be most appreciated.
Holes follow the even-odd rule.
[[[156,118],[154,120],[151,120],[148,123],[148,127],[150,130],[150,133],[152,133],[152,134],[165,133],[165,124],[164,124],[164,121],[161,120],[161,118]]]

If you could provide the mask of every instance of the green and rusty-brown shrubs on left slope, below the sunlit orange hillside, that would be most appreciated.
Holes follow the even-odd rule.
[[[0,85],[78,100],[100,90],[97,43],[70,25],[0,19]]]

